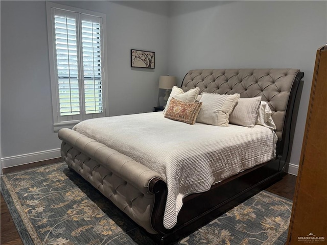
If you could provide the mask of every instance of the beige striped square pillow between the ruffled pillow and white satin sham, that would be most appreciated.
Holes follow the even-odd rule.
[[[260,107],[261,95],[253,98],[240,98],[229,114],[229,123],[253,128]]]

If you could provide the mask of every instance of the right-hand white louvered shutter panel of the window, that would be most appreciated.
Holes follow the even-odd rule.
[[[101,18],[81,15],[85,113],[102,113]]]

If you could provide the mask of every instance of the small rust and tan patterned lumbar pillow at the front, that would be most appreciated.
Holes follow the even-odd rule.
[[[201,109],[201,102],[181,102],[174,98],[171,99],[165,117],[175,120],[182,121],[186,124],[195,124],[196,117]]]

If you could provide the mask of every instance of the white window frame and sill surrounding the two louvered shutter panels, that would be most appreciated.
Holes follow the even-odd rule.
[[[84,80],[79,79],[79,94],[80,94],[80,114],[70,116],[60,116],[59,108],[59,85],[58,85],[58,72],[57,72],[57,60],[56,60],[56,46],[55,46],[55,33],[54,33],[54,18],[53,9],[62,11],[72,12],[72,15],[84,15],[90,18],[96,17],[102,19],[102,35],[101,35],[101,86],[102,86],[102,98],[103,98],[103,112],[102,113],[91,113],[86,114],[84,110]],[[76,18],[77,21],[82,18]],[[109,99],[108,99],[108,66],[107,66],[107,33],[106,33],[106,14],[89,11],[85,9],[75,8],[71,6],[65,6],[61,4],[46,2],[46,21],[48,26],[48,45],[49,45],[49,61],[50,61],[50,81],[51,81],[51,94],[52,94],[52,111],[53,111],[53,128],[54,132],[57,132],[61,128],[73,128],[78,122],[97,117],[104,117],[109,115]],[[81,52],[81,27],[80,23],[77,23],[77,45],[80,45],[78,52],[78,63],[83,66],[83,56]],[[80,70],[82,72],[82,70]],[[79,75],[83,77],[83,75]]]

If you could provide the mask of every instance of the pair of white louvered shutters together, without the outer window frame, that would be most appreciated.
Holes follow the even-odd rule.
[[[101,20],[55,9],[60,116],[103,113]]]

